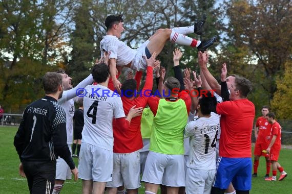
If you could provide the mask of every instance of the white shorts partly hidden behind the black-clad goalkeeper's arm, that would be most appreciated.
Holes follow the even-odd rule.
[[[72,145],[68,145],[70,153],[72,155]],[[56,164],[56,179],[59,180],[68,180],[72,179],[71,169],[64,159],[58,157]]]

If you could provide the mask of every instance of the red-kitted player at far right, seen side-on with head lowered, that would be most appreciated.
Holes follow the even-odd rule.
[[[287,173],[284,171],[283,167],[278,163],[278,158],[281,150],[281,126],[276,121],[276,116],[273,112],[267,114],[267,120],[270,124],[272,124],[271,129],[271,140],[266,149],[267,153],[270,153],[270,161],[272,162],[272,170],[273,176],[270,178],[266,178],[266,181],[276,181],[277,178],[277,168],[280,171],[281,175],[279,181],[283,180],[287,177]]]

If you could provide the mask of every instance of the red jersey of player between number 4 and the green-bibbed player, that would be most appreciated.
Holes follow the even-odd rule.
[[[123,110],[124,113],[127,115],[130,111],[130,109],[136,105],[136,108],[138,107],[145,107],[148,103],[148,96],[143,95],[143,91],[145,90],[152,90],[153,86],[153,68],[147,67],[147,76],[145,85],[141,91],[141,95],[139,95],[138,98],[135,98],[133,100],[130,100],[126,96],[121,96],[122,104],[123,104]],[[138,74],[138,75],[137,75]],[[137,72],[135,79],[137,81],[137,84],[140,83],[141,79],[141,72]],[[114,153],[132,153],[135,152],[141,148],[143,148],[143,141],[142,141],[142,135],[140,130],[141,125],[141,117],[142,116],[136,116],[135,118],[132,118],[131,124],[128,130],[120,130],[120,126],[117,125],[117,120],[113,120],[113,131],[114,131]]]

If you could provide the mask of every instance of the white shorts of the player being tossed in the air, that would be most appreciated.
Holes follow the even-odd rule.
[[[131,68],[134,70],[141,70],[141,69],[147,69],[147,63],[144,60],[143,56],[146,56],[145,54],[145,47],[148,45],[150,40],[146,40],[141,46],[139,46],[136,49],[136,55],[132,61]]]

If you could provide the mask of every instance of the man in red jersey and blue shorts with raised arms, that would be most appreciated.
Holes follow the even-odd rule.
[[[247,100],[252,90],[249,80],[235,76],[230,100],[219,103],[221,115],[220,147],[217,172],[211,194],[224,193],[232,182],[237,194],[249,193],[252,187],[252,129],[255,105]],[[244,125],[243,125],[244,124]]]

